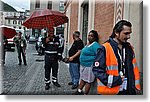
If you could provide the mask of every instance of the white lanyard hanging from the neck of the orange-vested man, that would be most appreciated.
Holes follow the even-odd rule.
[[[121,61],[120,75],[123,75],[125,74],[125,69],[123,69],[123,66],[125,65],[125,48],[123,48],[123,52],[122,52],[123,56],[121,56],[119,49],[118,49],[118,55]]]

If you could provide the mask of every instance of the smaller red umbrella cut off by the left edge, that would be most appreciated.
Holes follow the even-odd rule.
[[[17,33],[16,30],[12,27],[1,25],[0,26],[1,32],[6,36],[7,39],[13,38]]]

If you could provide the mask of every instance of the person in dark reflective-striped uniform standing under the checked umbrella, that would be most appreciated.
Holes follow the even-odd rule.
[[[60,50],[59,38],[54,35],[54,29],[48,30],[48,37],[44,40],[45,46],[45,90],[50,88],[50,74],[52,69],[52,83],[61,87],[58,83],[58,61],[62,59],[62,52]]]

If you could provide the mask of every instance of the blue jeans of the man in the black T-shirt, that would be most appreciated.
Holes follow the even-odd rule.
[[[70,72],[72,83],[78,84],[79,78],[80,78],[79,64],[78,63],[69,63],[69,72]]]

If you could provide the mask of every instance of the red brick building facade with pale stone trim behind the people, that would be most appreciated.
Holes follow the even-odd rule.
[[[72,33],[76,30],[81,32],[84,44],[87,43],[90,30],[98,31],[101,44],[111,35],[117,21],[129,20],[133,25],[130,42],[142,72],[142,0],[66,0],[65,13],[69,18],[64,32],[67,49],[72,44]]]

